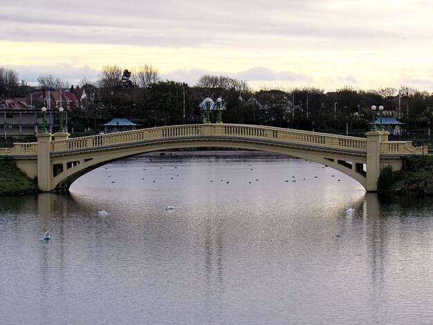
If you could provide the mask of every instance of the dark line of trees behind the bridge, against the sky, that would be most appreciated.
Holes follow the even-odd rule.
[[[0,94],[25,97],[36,89],[59,90],[71,87],[53,75],[40,75],[37,86],[28,86],[18,73],[0,67]],[[371,122],[371,105],[383,105],[384,115],[394,116],[415,128],[430,127],[433,120],[433,93],[411,86],[383,87],[363,91],[343,86],[333,92],[315,87],[260,89],[254,91],[244,80],[223,75],[203,75],[193,86],[162,80],[158,69],[145,64],[122,69],[102,66],[95,82],[80,80],[87,98],[69,112],[75,130],[97,129],[110,118],[129,118],[145,127],[202,122],[205,97],[223,99],[223,121],[264,124],[316,131],[362,130]],[[215,113],[212,112],[214,115]],[[212,116],[212,118],[215,118]]]

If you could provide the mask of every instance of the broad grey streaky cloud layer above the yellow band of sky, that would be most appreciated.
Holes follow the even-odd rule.
[[[367,0],[365,0],[367,1]],[[398,19],[394,8],[371,10],[368,3],[345,1],[219,1],[219,6],[203,1],[160,0],[74,1],[73,5],[53,6],[50,1],[3,1],[0,38],[15,41],[59,41],[87,44],[129,44],[146,46],[199,46],[204,44],[284,48],[287,41],[296,47],[311,39],[328,42],[324,46],[344,47],[335,40],[354,39],[388,43],[411,33],[414,24]],[[340,1],[339,1],[340,2]],[[369,2],[369,1],[367,1]],[[22,5],[22,6],[21,6]],[[21,10],[26,8],[26,10]],[[386,24],[380,12],[392,17]],[[398,12],[397,12],[398,13]],[[378,18],[371,24],[371,20]],[[423,28],[423,20],[416,30]],[[424,29],[425,30],[425,29]],[[423,33],[422,35],[425,35]],[[427,36],[425,36],[427,37]],[[378,42],[380,44],[380,42]]]

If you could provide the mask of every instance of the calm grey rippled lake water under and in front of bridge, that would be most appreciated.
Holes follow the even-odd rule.
[[[301,159],[193,154],[0,198],[1,323],[432,324],[433,198],[367,194]]]

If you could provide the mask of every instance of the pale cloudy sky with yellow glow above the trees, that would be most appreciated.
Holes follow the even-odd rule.
[[[0,66],[37,84],[149,64],[252,89],[412,86],[433,92],[432,0],[2,0]]]

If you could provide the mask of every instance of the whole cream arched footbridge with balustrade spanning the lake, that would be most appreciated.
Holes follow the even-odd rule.
[[[377,190],[380,168],[401,169],[403,157],[427,154],[427,147],[409,141],[389,141],[386,131],[366,138],[264,127],[248,124],[186,124],[154,127],[82,138],[64,132],[38,133],[37,142],[0,149],[28,177],[37,178],[42,192],[67,190],[92,169],[151,151],[224,147],[268,151],[327,165],[357,180],[367,192]],[[54,140],[53,140],[54,138]]]

